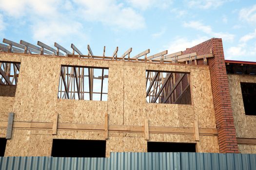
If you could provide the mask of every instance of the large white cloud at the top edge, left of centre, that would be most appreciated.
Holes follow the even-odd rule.
[[[75,0],[80,16],[88,21],[99,21],[111,27],[136,30],[145,27],[145,20],[130,7],[116,0]]]

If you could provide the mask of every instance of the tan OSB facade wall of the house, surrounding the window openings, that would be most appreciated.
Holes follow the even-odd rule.
[[[143,126],[146,118],[150,126],[193,128],[197,119],[199,128],[216,128],[208,67],[8,55],[0,54],[0,60],[21,62],[15,100],[12,98],[13,104],[5,109],[15,113],[14,121],[53,122],[54,114],[58,113],[59,123],[104,124],[104,114],[108,113],[110,125]],[[109,68],[108,101],[58,99],[61,65]],[[147,69],[189,72],[192,104],[146,103]],[[105,140],[103,131],[58,129],[56,136],[51,133],[45,129],[14,129],[12,139],[7,141],[5,154],[49,156],[53,138]],[[149,135],[150,141],[197,143],[198,152],[218,152],[217,136],[200,136],[199,139],[195,141],[193,134]],[[206,147],[208,145],[211,147]],[[144,133],[109,132],[106,155],[109,152],[146,151]]]

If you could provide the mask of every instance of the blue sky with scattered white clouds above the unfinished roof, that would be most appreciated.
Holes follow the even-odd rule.
[[[0,0],[0,37],[87,54],[183,51],[222,38],[225,59],[256,61],[256,0]]]

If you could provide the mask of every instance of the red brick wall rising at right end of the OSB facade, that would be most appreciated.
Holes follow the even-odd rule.
[[[197,52],[197,55],[214,54],[208,59],[210,68],[215,117],[218,131],[220,153],[238,153],[236,129],[231,108],[228,78],[224,61],[221,38],[212,38],[195,47],[183,51],[183,54]],[[197,63],[197,64],[201,64]]]

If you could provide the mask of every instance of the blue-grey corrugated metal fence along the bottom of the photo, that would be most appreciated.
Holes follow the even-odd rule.
[[[111,153],[110,158],[0,157],[0,170],[256,170],[256,154]]]

